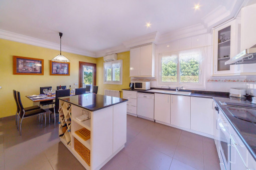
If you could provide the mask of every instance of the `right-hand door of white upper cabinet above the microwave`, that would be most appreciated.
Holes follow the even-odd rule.
[[[152,76],[152,44],[141,46],[140,75]]]

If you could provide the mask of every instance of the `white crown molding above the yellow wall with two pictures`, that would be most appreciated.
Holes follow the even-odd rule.
[[[17,42],[22,42],[22,43],[26,43],[26,44],[30,44],[30,45],[36,45],[36,46],[46,47],[46,48],[50,48],[50,49],[60,50],[60,44],[58,44],[58,43],[34,38],[31,36],[27,36],[27,35],[22,35],[22,34],[15,33],[15,32],[6,31],[3,29],[0,29],[0,38],[17,41]],[[70,53],[75,53],[75,54],[85,55],[85,56],[90,56],[90,57],[96,57],[95,52],[92,52],[92,51],[87,51],[87,50],[74,48],[74,47],[70,47],[70,46],[65,46],[65,45],[62,45],[61,47],[62,47],[61,48],[62,51],[65,51],[65,52],[70,52]]]

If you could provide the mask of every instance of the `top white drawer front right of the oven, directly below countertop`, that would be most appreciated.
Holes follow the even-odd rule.
[[[234,146],[237,149],[244,165],[247,166],[247,148],[233,128],[230,129],[230,139],[234,143]]]

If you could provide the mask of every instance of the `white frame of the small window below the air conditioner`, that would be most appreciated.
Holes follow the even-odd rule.
[[[113,78],[113,64],[120,63],[119,81],[112,80]],[[106,64],[111,64],[111,81],[106,80],[107,71],[105,69]],[[104,84],[122,84],[122,59],[117,59],[113,61],[107,61],[103,63],[103,83]]]

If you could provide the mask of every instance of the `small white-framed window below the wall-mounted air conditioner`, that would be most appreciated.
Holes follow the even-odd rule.
[[[104,83],[122,84],[122,60],[104,62]]]

